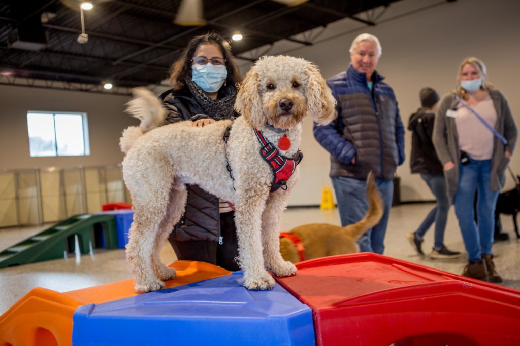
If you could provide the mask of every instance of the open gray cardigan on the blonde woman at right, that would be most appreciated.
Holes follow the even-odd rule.
[[[497,132],[504,136],[508,141],[508,144],[504,146],[497,136],[494,136],[493,140],[490,183],[491,190],[500,191],[504,186],[505,169],[509,164],[509,159],[505,157],[504,152],[505,150],[508,150],[513,154],[513,150],[516,146],[518,130],[513,115],[511,114],[508,101],[505,99],[504,95],[496,89],[490,89],[489,95],[491,96],[491,100],[493,100],[493,105],[497,112],[495,130],[497,130]],[[440,162],[443,165],[449,161],[455,163],[453,169],[444,172],[448,186],[448,196],[451,201],[453,201],[453,197],[455,196],[455,193],[457,193],[459,187],[460,150],[455,119],[446,116],[446,112],[448,109],[457,109],[458,103],[459,102],[455,98],[454,93],[444,96],[443,100],[440,102],[439,108],[437,109],[437,114],[435,115],[435,126],[433,130],[433,144]]]

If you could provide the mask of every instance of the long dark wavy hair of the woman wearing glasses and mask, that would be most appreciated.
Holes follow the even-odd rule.
[[[242,81],[242,75],[238,70],[235,58],[231,54],[231,46],[222,36],[216,32],[210,32],[204,35],[193,37],[180,58],[177,59],[170,67],[170,85],[173,90],[180,90],[185,86],[185,80],[191,79],[191,59],[193,54],[201,44],[214,44],[217,45],[224,59],[226,59],[226,68],[228,75],[226,78],[226,84],[236,85]]]

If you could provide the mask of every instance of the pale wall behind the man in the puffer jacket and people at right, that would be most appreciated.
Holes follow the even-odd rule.
[[[414,12],[421,8],[423,10]],[[377,9],[375,14],[381,10]],[[486,63],[489,80],[508,98],[516,122],[520,124],[519,13],[520,1],[516,0],[458,0],[454,3],[403,0],[391,4],[375,27],[350,19],[341,20],[330,24],[313,46],[282,40],[268,54],[283,53],[313,61],[328,78],[347,68],[348,49],[358,34],[368,32],[377,36],[383,48],[377,70],[394,88],[405,127],[410,114],[420,106],[419,90],[430,86],[441,95],[447,93],[455,86],[460,62],[465,57],[476,56]],[[242,71],[247,71],[249,65],[244,63]],[[433,200],[420,176],[410,174],[408,130],[405,148],[407,160],[397,170],[401,177],[401,200]],[[319,204],[321,187],[331,185],[329,155],[316,145],[310,119],[304,124],[302,150],[301,181],[289,204]],[[511,168],[520,173],[520,153],[513,156]],[[508,174],[506,188],[512,186],[514,183]]]

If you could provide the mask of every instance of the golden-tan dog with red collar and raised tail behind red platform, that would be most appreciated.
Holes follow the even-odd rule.
[[[367,213],[354,225],[341,227],[331,224],[308,224],[293,228],[287,232],[289,235],[280,233],[280,253],[283,259],[296,263],[301,260],[359,252],[357,240],[368,229],[377,225],[383,216],[383,202],[374,184],[373,174],[367,179],[367,198]],[[296,236],[294,241],[291,234]]]

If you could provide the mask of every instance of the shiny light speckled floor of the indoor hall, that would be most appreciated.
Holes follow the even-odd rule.
[[[406,239],[406,233],[414,231],[419,226],[433,205],[433,203],[401,204],[392,208],[386,233],[385,255],[460,274],[467,256],[453,208],[448,217],[445,244],[451,250],[463,252],[460,258],[439,260],[428,257],[433,246],[433,229],[430,229],[425,236],[423,244],[425,257],[418,256]],[[493,245],[495,263],[499,274],[504,278],[502,284],[520,289],[520,241],[514,234],[512,218],[502,216],[501,221],[504,230],[510,234],[511,240]],[[289,209],[285,211],[282,230],[290,230],[295,226],[308,223],[339,225],[339,213],[337,209],[324,211],[317,208]],[[49,226],[0,229],[0,251]],[[161,258],[165,264],[170,264],[176,259],[169,244],[163,247]],[[66,259],[0,269],[0,314],[34,287],[66,292],[131,277],[124,250],[96,250],[93,255],[80,257],[69,255]]]

